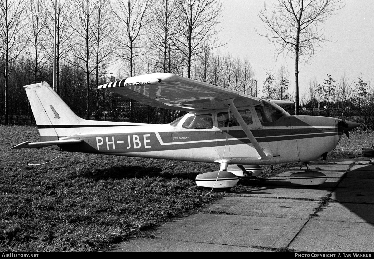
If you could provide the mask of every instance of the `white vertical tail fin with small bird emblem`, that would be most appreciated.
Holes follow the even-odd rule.
[[[33,110],[41,141],[52,141],[59,136],[78,134],[74,132],[75,125],[84,120],[78,117],[67,104],[47,84],[32,84],[24,86],[28,100]],[[66,128],[70,128],[67,134]]]

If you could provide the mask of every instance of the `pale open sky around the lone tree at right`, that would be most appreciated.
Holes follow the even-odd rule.
[[[279,55],[274,57],[274,46],[258,32],[265,33],[264,24],[258,17],[258,10],[264,6],[273,10],[275,0],[223,0],[224,12],[221,36],[230,40],[222,54],[231,52],[233,57],[248,57],[255,70],[258,88],[263,86],[265,70],[273,69],[276,74],[285,64],[290,73],[290,91],[294,91],[294,60]],[[327,74],[336,81],[343,73],[350,81],[357,81],[362,73],[364,81],[374,80],[374,1],[346,0],[344,8],[331,16],[324,24],[325,33],[330,40],[319,51],[310,64],[303,64],[299,72],[300,97],[306,93],[310,78],[322,84]]]

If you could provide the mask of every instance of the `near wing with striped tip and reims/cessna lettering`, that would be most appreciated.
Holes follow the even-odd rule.
[[[169,73],[134,76],[98,87],[105,88],[153,107],[181,111],[225,109],[230,99],[237,108],[261,103],[257,97]]]

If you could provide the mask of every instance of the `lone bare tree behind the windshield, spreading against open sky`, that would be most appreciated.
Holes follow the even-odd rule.
[[[276,55],[295,59],[295,115],[299,110],[299,63],[310,61],[328,41],[321,25],[342,7],[340,0],[278,0],[272,13],[266,6],[258,16],[267,29],[265,36],[275,46]]]

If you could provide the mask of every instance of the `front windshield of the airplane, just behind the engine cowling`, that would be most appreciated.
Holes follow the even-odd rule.
[[[262,101],[263,103],[255,106],[256,114],[262,125],[270,126],[271,122],[280,119],[282,116],[289,116],[288,112],[283,110],[275,103],[271,103],[266,100]]]

